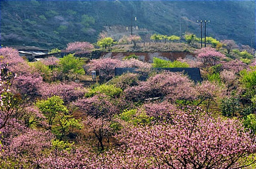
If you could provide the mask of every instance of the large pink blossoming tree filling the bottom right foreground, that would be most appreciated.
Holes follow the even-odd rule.
[[[107,156],[111,160],[108,165],[236,168],[246,165],[248,159],[253,161],[249,154],[256,150],[255,140],[238,120],[216,119],[200,108],[180,111],[172,118],[172,125],[137,127],[119,135],[125,156],[120,152]]]

